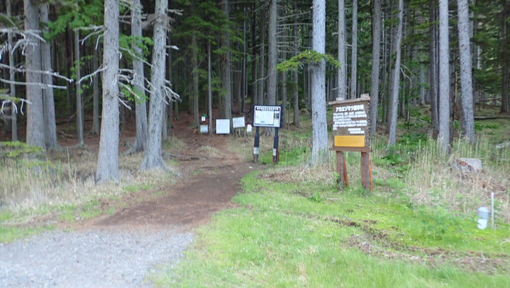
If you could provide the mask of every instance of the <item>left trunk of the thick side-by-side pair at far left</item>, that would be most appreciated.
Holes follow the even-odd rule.
[[[24,13],[25,30],[39,31],[39,9],[33,0],[24,0]],[[27,70],[40,71],[41,41],[32,35],[27,38],[33,46],[25,50],[25,67]],[[27,83],[42,83],[41,74],[28,72]],[[46,149],[42,89],[39,85],[27,85],[27,100],[32,103],[27,107],[27,144]]]

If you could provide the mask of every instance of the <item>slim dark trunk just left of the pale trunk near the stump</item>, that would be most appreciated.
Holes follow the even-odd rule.
[[[430,8],[430,22],[436,21],[436,12],[432,4]],[[429,43],[429,86],[430,86],[430,115],[432,122],[432,130],[439,131],[439,118],[438,118],[438,84],[437,84],[437,50],[436,50],[436,25],[430,25],[430,43]]]

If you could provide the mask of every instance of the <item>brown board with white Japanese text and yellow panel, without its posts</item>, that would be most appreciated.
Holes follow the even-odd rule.
[[[335,101],[333,105],[333,147],[369,148],[370,98]]]

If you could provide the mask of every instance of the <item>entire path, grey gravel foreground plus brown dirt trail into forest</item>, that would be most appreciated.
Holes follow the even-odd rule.
[[[183,115],[186,116],[186,115]],[[183,176],[163,187],[103,200],[111,215],[0,245],[0,287],[150,287],[144,277],[161,263],[175,263],[192,241],[193,228],[235,206],[232,197],[253,164],[228,150],[233,136],[193,133],[190,117],[175,123],[185,142],[167,152]],[[122,207],[122,208],[120,208]]]

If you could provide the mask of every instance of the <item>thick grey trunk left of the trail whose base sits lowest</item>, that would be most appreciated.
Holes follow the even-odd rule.
[[[97,159],[96,182],[119,179],[119,2],[105,0],[105,34],[103,63],[107,68],[101,77],[103,83],[103,117],[101,119],[101,136],[99,156]]]

